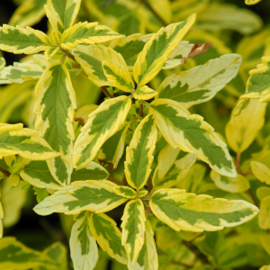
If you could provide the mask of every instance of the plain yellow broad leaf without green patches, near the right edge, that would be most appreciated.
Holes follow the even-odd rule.
[[[233,115],[234,112],[232,112]],[[236,153],[245,151],[265,123],[266,103],[250,100],[247,108],[238,116],[231,116],[226,126],[226,138]]]

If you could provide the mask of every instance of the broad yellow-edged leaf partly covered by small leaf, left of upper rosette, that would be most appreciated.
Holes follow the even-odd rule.
[[[94,44],[88,46],[78,45],[76,48],[72,49],[72,54],[85,70],[88,78],[97,86],[113,86],[104,75],[102,66],[103,61],[108,61],[125,70],[125,67],[122,66],[124,61],[121,54],[110,47]]]

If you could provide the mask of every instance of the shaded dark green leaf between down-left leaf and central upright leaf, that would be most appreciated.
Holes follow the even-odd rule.
[[[115,170],[118,166],[124,151],[125,139],[129,127],[130,123],[123,124],[123,127],[119,131],[104,142],[103,147],[98,152],[98,160],[101,163],[109,164],[108,169],[110,171]]]

